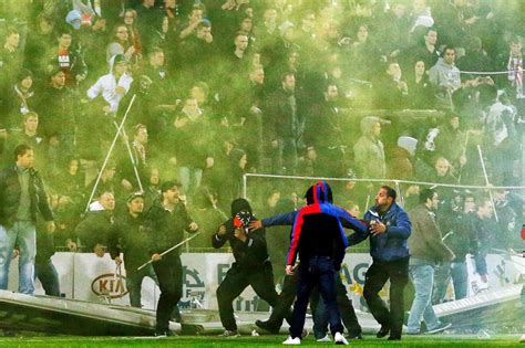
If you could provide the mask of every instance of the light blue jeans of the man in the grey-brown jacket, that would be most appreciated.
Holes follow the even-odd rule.
[[[434,265],[425,260],[411,257],[409,266],[410,277],[414,284],[415,297],[410,308],[408,334],[419,334],[421,319],[429,330],[440,326],[440,320],[432,308],[432,286],[434,284]]]

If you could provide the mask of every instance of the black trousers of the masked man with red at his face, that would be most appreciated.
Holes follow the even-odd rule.
[[[270,306],[274,307],[277,304],[278,296],[274,285],[274,272],[269,262],[257,268],[243,268],[234,263],[217,288],[220,321],[227,330],[237,330],[233,302],[248,285]]]

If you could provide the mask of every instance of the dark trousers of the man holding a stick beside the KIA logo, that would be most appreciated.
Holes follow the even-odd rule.
[[[183,265],[178,255],[165,255],[153,263],[158,280],[161,296],[157,304],[156,330],[168,330],[172,313],[183,297]]]

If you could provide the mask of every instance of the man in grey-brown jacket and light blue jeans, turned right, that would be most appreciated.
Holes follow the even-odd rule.
[[[424,189],[420,193],[420,205],[410,212],[412,234],[409,238],[409,271],[414,284],[415,297],[410,308],[406,330],[409,335],[420,334],[421,319],[426,324],[428,334],[437,334],[451,326],[437,319],[431,302],[434,267],[440,262],[450,262],[455,257],[442,241],[434,213],[439,202],[434,190]]]

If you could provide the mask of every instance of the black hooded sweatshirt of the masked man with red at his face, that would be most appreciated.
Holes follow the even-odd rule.
[[[222,225],[226,228],[225,235],[218,235],[218,232],[212,236],[212,244],[215,249],[222,247],[226,241],[229,241],[229,245],[234,251],[235,264],[243,268],[255,268],[269,261],[268,249],[266,245],[266,232],[265,229],[258,229],[249,231],[248,238],[245,242],[235,236],[235,224],[236,215],[240,213],[247,217],[247,220],[257,220],[251,214],[251,207],[247,200],[238,198],[231,202],[231,218],[225,221]],[[246,220],[246,219],[245,219]],[[245,228],[247,231],[248,221],[241,223],[240,228]]]

